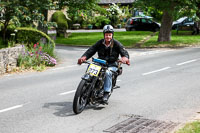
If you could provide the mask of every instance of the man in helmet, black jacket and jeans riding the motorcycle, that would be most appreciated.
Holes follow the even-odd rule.
[[[91,58],[96,52],[98,58],[106,60],[108,62],[108,71],[106,71],[106,77],[104,80],[104,97],[103,102],[107,103],[109,93],[112,87],[112,72],[117,71],[118,57],[121,55],[120,62],[130,65],[129,54],[123,45],[113,38],[114,29],[111,25],[105,25],[103,28],[104,39],[101,39],[91,46],[82,56],[78,59],[79,65],[84,61]]]

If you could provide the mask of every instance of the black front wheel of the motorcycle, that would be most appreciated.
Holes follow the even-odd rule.
[[[76,90],[74,101],[73,101],[73,111],[75,114],[81,113],[87,105],[87,84],[85,80],[81,80],[79,86]]]

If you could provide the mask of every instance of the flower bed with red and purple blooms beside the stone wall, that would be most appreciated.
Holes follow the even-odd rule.
[[[49,51],[46,51],[49,49],[48,47],[44,44],[34,44],[32,48],[26,49],[26,52],[19,56],[17,65],[20,68],[33,68],[35,70],[43,70],[45,66],[56,65],[56,59],[49,55]]]

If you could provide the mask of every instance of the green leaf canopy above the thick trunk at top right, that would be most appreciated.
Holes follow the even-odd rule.
[[[168,10],[173,16],[173,20],[183,16],[192,17],[199,10],[198,3],[200,3],[199,0],[136,0],[134,6],[142,9],[146,15],[161,21],[163,11],[165,10]]]

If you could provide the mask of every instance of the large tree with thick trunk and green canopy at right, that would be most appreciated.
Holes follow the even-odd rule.
[[[147,10],[153,8],[154,11],[161,12],[161,28],[158,36],[158,42],[171,40],[172,22],[177,18],[180,12],[191,14],[197,10],[196,2],[199,0],[136,0],[137,7]]]

